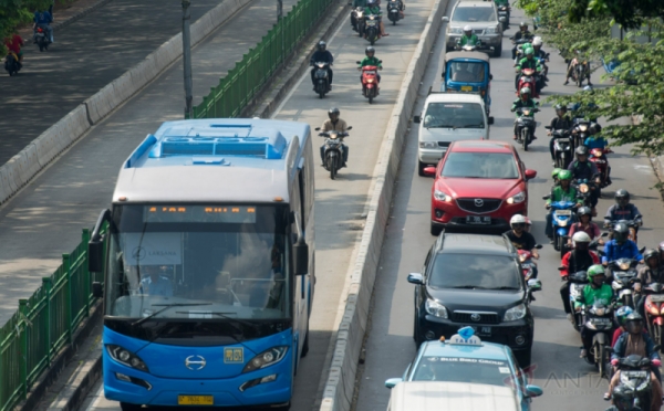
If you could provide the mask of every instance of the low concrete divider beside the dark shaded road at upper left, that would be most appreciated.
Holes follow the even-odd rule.
[[[91,12],[93,8],[101,7],[104,1],[111,0],[101,0],[91,9],[84,10],[75,17],[77,19],[82,18],[85,15],[84,13]],[[191,46],[196,46],[251,1],[225,0],[204,14],[191,25]],[[65,22],[71,23],[73,21],[71,19]],[[152,83],[164,70],[176,62],[181,53],[181,33],[179,33],[162,44],[141,63],[89,97],[2,165],[0,167],[0,204],[20,191],[48,164],[81,138],[92,126],[100,123],[111,112]]]

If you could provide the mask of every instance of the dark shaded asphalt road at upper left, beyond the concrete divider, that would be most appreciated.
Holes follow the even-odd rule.
[[[221,1],[193,1],[191,22]],[[0,72],[0,165],[179,33],[181,22],[179,1],[113,0],[55,31],[48,52],[24,39],[23,70],[14,77]],[[271,25],[266,21],[249,32],[264,35]],[[250,40],[248,48],[255,43]]]

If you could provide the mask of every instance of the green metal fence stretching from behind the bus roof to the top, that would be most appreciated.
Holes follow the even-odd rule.
[[[237,117],[277,68],[319,22],[333,0],[300,0],[266,36],[249,49],[219,85],[194,107],[194,118]]]

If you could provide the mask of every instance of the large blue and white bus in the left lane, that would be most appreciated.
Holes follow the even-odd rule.
[[[89,244],[107,399],[288,410],[315,283],[312,154],[307,124],[225,118],[164,123],[132,152]]]

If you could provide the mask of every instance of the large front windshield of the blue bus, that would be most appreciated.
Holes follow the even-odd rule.
[[[106,314],[123,318],[287,319],[286,205],[116,205]]]

